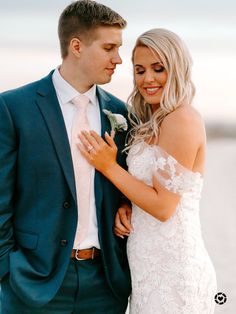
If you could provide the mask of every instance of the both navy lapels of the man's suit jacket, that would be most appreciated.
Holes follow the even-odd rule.
[[[112,105],[110,98],[106,94],[106,92],[99,87],[97,87],[97,97],[99,101],[101,116],[101,134],[104,137],[104,133],[106,131],[110,133],[111,125],[106,114],[103,112],[103,109],[115,112],[116,108]],[[50,73],[49,76],[41,81],[41,84],[37,91],[36,103],[44,117],[68,186],[71,190],[75,202],[77,202],[70,144],[68,141],[63,115],[52,83],[52,73]],[[98,213],[100,213],[102,207],[103,180],[103,176],[98,171],[95,171],[94,185],[96,207]]]

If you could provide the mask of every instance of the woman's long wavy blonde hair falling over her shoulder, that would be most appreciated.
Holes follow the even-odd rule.
[[[161,123],[166,115],[184,103],[191,104],[195,87],[191,80],[192,58],[183,41],[173,32],[155,28],[140,35],[132,53],[137,47],[145,46],[158,55],[167,73],[160,106],[153,113],[145,102],[134,80],[134,88],[129,96],[129,117],[132,131],[128,147],[141,141],[158,139]]]

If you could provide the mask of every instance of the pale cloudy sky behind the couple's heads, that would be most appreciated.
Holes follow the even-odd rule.
[[[127,21],[123,64],[103,87],[127,100],[136,38],[162,27],[176,32],[193,58],[194,106],[207,121],[236,122],[236,1],[100,0]],[[58,18],[68,0],[0,0],[0,92],[47,75],[61,63]]]

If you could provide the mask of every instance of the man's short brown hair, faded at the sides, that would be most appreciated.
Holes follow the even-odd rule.
[[[72,38],[81,38],[88,43],[94,40],[93,31],[100,26],[125,28],[126,21],[109,7],[91,0],[75,1],[68,5],[59,18],[58,35],[61,55],[68,55]]]

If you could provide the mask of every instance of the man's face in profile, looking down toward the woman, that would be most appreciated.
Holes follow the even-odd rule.
[[[117,64],[122,60],[122,30],[118,27],[99,27],[94,31],[93,41],[81,42],[79,73],[88,86],[111,81]]]

